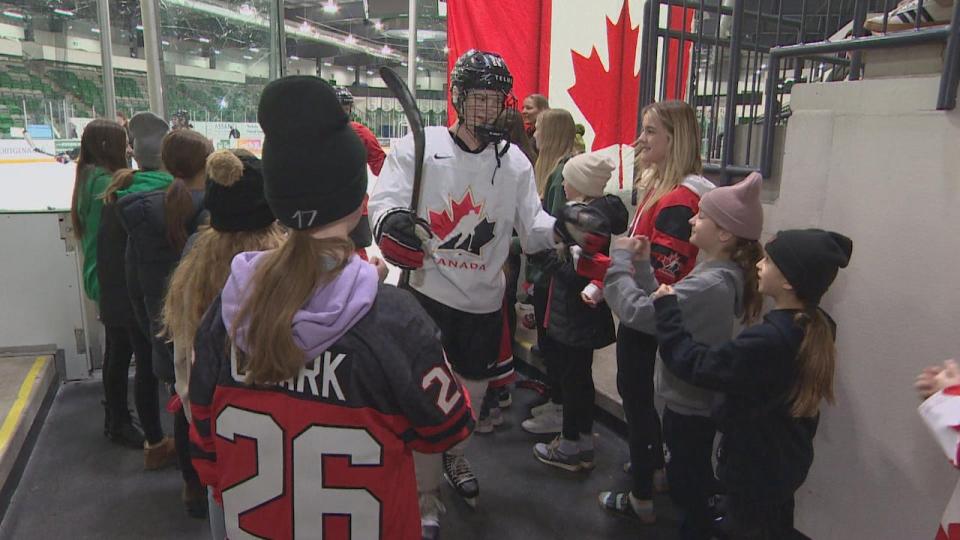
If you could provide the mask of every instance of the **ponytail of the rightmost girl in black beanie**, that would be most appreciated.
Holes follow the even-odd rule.
[[[820,400],[833,404],[833,371],[837,351],[833,329],[818,307],[808,307],[794,321],[803,328],[803,342],[797,354],[797,371],[790,390],[790,413],[795,418],[817,414]]]

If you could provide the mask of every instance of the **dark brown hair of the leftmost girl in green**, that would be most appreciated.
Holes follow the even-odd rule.
[[[80,192],[87,189],[90,174],[96,167],[111,173],[127,166],[127,132],[123,126],[98,118],[83,128],[80,137],[80,156],[77,158],[77,173],[73,179],[73,198],[70,203],[70,220],[73,234],[80,238],[84,223],[79,212]]]

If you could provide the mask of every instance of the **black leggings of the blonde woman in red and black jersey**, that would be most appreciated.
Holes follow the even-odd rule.
[[[623,399],[630,445],[633,495],[653,498],[653,472],[663,468],[660,416],[653,404],[657,338],[620,325],[617,332],[617,390]]]

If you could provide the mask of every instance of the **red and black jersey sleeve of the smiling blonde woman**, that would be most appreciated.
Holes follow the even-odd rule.
[[[693,270],[697,246],[690,243],[690,218],[700,211],[700,198],[692,191],[676,189],[661,201],[650,236],[654,276],[673,285]]]

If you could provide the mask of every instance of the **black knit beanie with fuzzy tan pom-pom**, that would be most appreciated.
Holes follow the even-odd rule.
[[[255,231],[276,218],[263,196],[260,160],[246,150],[218,150],[207,157],[203,207],[221,232]]]

